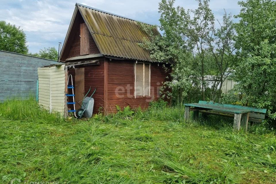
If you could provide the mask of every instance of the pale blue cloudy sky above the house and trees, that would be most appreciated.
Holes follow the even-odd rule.
[[[78,3],[114,14],[159,24],[160,0],[77,0]],[[29,51],[56,47],[64,42],[76,0],[0,0],[0,20],[20,26],[27,36]],[[196,0],[176,0],[175,5],[195,9]],[[224,9],[233,15],[239,13],[237,0],[211,0],[210,8],[221,19]]]

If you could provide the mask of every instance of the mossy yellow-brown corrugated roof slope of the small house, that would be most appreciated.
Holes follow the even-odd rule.
[[[144,38],[149,40],[149,36],[137,21],[78,3],[76,6],[101,54],[152,61],[149,51],[138,46]],[[160,34],[156,28],[153,31]]]

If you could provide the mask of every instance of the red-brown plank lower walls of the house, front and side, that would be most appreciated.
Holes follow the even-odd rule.
[[[99,109],[104,110],[104,60],[107,63],[107,113],[116,113],[116,105],[124,108],[130,106],[131,108],[141,107],[145,109],[149,106],[150,101],[157,100],[159,98],[159,89],[162,86],[162,82],[166,81],[168,75],[162,64],[158,66],[157,63],[151,64],[151,95],[150,97],[136,96],[134,97],[134,62],[133,60],[113,60],[109,61],[107,58],[101,57],[99,65],[91,66],[76,66],[78,68],[85,68],[85,94],[91,86],[91,93],[97,87],[96,93],[93,95],[94,108],[93,114],[97,114]],[[69,74],[74,76],[75,70],[69,69]],[[71,90],[69,90],[71,94]],[[72,97],[68,97],[68,101],[72,101]],[[72,108],[72,106],[68,106]]]

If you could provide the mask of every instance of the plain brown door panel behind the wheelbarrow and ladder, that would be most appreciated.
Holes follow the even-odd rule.
[[[81,108],[81,104],[84,97],[84,68],[75,69],[75,107],[76,110]]]

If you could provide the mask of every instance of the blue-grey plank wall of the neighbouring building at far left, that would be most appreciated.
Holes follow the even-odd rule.
[[[37,67],[59,64],[28,55],[0,50],[0,101],[10,98],[28,99],[36,94]]]

